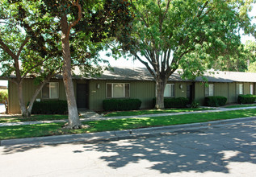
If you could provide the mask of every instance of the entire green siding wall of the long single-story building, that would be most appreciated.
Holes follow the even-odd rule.
[[[66,100],[65,87],[62,80],[51,80],[59,82],[59,100]],[[149,109],[153,107],[152,99],[156,95],[156,88],[154,81],[128,81],[128,80],[73,80],[74,91],[76,95],[77,84],[89,84],[89,109],[102,110],[103,100],[107,99],[106,86],[107,83],[129,83],[130,84],[130,98],[138,98],[142,101],[141,109]],[[97,88],[99,84],[99,88]],[[193,84],[192,82],[168,82],[174,84],[175,97],[187,97],[187,86]],[[237,88],[235,82],[233,83],[208,83],[214,84],[214,96],[223,96],[228,98],[228,103],[237,102]],[[241,83],[244,84],[244,94],[250,94],[250,84],[254,84],[254,94],[256,93],[256,83]],[[180,87],[183,85],[183,88]],[[200,105],[204,105],[205,86],[202,83],[195,82],[193,96],[195,101],[199,101]],[[37,85],[32,79],[23,81],[23,97],[27,103],[32,94],[35,93]],[[18,93],[16,84],[9,82],[9,113],[20,113]],[[41,93],[37,98],[41,97]]]

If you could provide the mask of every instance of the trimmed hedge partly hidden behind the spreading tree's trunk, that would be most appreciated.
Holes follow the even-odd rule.
[[[165,108],[187,108],[189,103],[186,97],[165,97]],[[156,105],[156,98],[153,98],[153,105]]]

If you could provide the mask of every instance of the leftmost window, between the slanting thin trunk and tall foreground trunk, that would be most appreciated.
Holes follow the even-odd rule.
[[[59,98],[59,83],[49,82],[42,88],[43,99],[58,99]]]

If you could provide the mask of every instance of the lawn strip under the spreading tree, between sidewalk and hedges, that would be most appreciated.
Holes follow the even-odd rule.
[[[117,111],[106,113],[104,117],[119,117],[119,116],[137,116],[145,114],[156,114],[156,113],[180,113],[180,112],[193,112],[209,110],[206,108],[183,108],[183,109],[146,109],[146,110],[134,110],[134,111]]]

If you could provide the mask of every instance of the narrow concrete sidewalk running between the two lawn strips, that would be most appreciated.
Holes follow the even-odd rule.
[[[121,116],[121,117],[102,117],[98,113],[92,111],[82,112],[81,115],[85,118],[81,118],[81,121],[102,121],[102,120],[111,120],[111,119],[124,119],[124,118],[136,118],[136,117],[162,117],[162,116],[174,116],[174,115],[183,115],[191,113],[216,113],[216,112],[225,112],[232,110],[241,110],[241,109],[256,109],[256,106],[252,107],[241,107],[241,108],[217,108],[214,110],[202,110],[202,111],[193,111],[193,112],[180,112],[180,113],[157,113],[157,114],[145,114],[138,116]],[[34,125],[34,124],[44,124],[44,123],[60,123],[67,122],[68,120],[54,120],[54,121],[22,121],[22,122],[13,122],[13,123],[0,123],[1,126],[25,126],[25,125]]]

